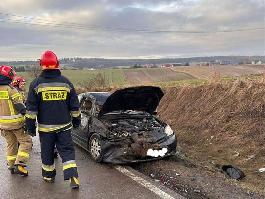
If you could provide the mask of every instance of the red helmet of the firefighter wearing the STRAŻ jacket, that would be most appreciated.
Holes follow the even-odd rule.
[[[50,50],[45,51],[41,56],[41,59],[38,59],[38,61],[43,70],[60,69],[60,63],[57,56]]]

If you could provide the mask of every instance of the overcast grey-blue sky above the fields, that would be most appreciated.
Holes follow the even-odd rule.
[[[0,13],[116,29],[207,31],[265,26],[264,0],[0,0],[0,5]],[[6,19],[33,20],[2,14],[0,18],[0,61],[36,60],[45,50],[52,50],[59,58],[265,54],[264,29],[134,33],[11,23]]]

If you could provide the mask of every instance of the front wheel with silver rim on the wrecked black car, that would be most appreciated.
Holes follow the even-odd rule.
[[[88,150],[91,158],[95,162],[102,162],[102,147],[100,144],[100,135],[98,133],[94,133],[90,139],[89,139],[89,145],[88,145]]]

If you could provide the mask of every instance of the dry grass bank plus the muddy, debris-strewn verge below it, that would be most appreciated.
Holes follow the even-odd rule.
[[[265,76],[263,82],[233,83],[215,76],[206,85],[162,88],[157,116],[178,136],[177,153],[132,167],[187,198],[264,198],[247,190],[265,194],[265,172],[259,172],[265,167]],[[227,164],[246,177],[226,179],[220,167]]]

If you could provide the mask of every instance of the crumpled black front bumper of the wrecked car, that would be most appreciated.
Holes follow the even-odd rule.
[[[161,149],[166,147],[168,152],[164,156],[151,157],[135,155],[131,147],[128,147],[126,141],[101,140],[101,150],[103,152],[103,162],[114,164],[128,164],[133,162],[146,162],[157,160],[174,155],[177,147],[177,137],[175,134],[168,137],[164,142],[157,144]],[[152,145],[150,145],[152,146]]]

